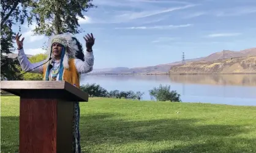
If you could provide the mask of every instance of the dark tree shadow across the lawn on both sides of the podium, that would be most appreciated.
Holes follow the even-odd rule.
[[[152,143],[182,141],[170,148],[145,152],[256,152],[256,138],[232,138],[250,132],[244,126],[195,124],[198,119],[153,119],[127,121],[120,114],[101,113],[81,116],[81,147],[86,152],[100,144]],[[18,122],[16,116],[1,117],[1,151],[18,152]],[[97,148],[105,152],[106,148]],[[118,151],[117,151],[118,152]],[[135,151],[134,151],[135,152]]]

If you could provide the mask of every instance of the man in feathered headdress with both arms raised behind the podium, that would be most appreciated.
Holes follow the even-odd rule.
[[[43,80],[65,80],[77,88],[80,88],[80,75],[92,71],[94,55],[92,46],[95,38],[92,34],[83,37],[86,41],[86,53],[84,54],[81,43],[72,35],[54,35],[48,43],[48,58],[38,63],[30,63],[23,49],[24,38],[16,35],[18,46],[18,61],[23,71],[43,74]],[[45,64],[43,64],[45,63]],[[79,102],[73,105],[73,152],[80,153],[80,107]]]

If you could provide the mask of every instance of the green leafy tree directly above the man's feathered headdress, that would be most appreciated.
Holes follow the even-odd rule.
[[[36,18],[37,35],[51,36],[53,34],[79,34],[78,18],[83,18],[82,12],[97,7],[92,0],[37,0],[32,5],[32,14]]]

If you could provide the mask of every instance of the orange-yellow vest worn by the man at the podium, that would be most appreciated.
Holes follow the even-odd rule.
[[[69,84],[75,85],[80,88],[80,77],[75,67],[75,59],[69,59],[69,69],[64,68],[62,80],[69,82]],[[47,70],[47,65],[43,65],[43,80],[45,80],[45,72]]]

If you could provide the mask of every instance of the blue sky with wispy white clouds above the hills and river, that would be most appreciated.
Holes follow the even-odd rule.
[[[153,66],[223,49],[256,47],[255,0],[94,0],[81,28],[92,32],[94,68]],[[23,28],[26,54],[47,38]],[[86,34],[86,33],[85,33]],[[83,35],[76,35],[84,44]]]

